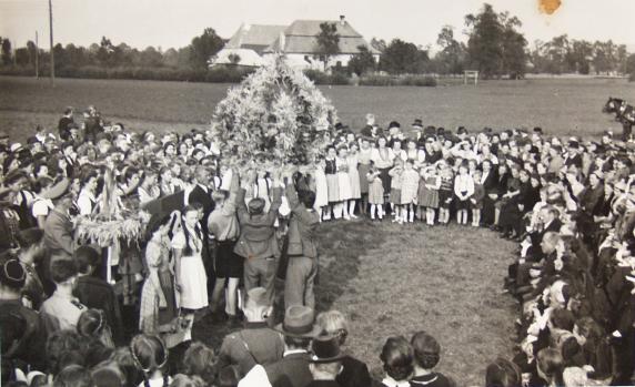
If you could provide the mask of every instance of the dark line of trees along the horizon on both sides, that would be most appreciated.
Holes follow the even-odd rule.
[[[530,47],[520,32],[522,22],[508,12],[496,12],[484,3],[475,14],[464,19],[466,42],[460,42],[454,28],[445,26],[437,35],[439,50],[431,55],[430,47],[416,45],[402,39],[389,43],[373,38],[370,45],[381,52],[379,61],[367,47],[360,47],[346,68],[326,69],[339,74],[364,75],[385,72],[397,74],[463,74],[464,70],[478,70],[484,79],[523,78],[526,73],[581,73],[581,74],[635,74],[635,54],[624,44],[588,42],[570,39],[566,34],[548,42],[535,41]],[[339,52],[336,29],[329,23],[321,26],[318,34],[316,57],[327,62]],[[9,39],[1,41],[1,72],[30,75],[34,73],[39,57],[42,73],[48,71],[49,52],[36,48],[32,41],[16,50]],[[161,50],[148,47],[143,50],[125,43],[113,44],[103,37],[101,42],[88,48],[60,43],[53,48],[56,72],[61,77],[77,78],[132,78],[169,79],[188,81],[239,81],[249,70],[209,69],[209,60],[225,41],[208,28],[201,35],[181,49]],[[240,64],[240,58],[232,60]]]

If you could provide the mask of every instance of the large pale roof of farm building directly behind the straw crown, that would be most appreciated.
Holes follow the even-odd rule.
[[[359,47],[364,45],[371,53],[380,54],[380,51],[372,48],[349,22],[339,20],[295,20],[284,30],[282,42],[281,38],[278,37],[263,52],[315,53],[318,48],[316,35],[321,32],[320,24],[324,22],[336,26],[336,33],[340,35],[340,53],[359,53]]]

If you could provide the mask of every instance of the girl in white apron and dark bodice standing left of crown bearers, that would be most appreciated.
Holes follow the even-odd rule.
[[[203,235],[199,228],[199,210],[187,205],[182,212],[181,230],[172,238],[174,278],[180,306],[190,329],[194,312],[208,306],[208,277],[201,252]]]

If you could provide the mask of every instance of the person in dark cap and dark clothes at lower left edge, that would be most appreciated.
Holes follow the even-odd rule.
[[[0,262],[0,326],[8,330],[10,319],[18,319],[19,323],[16,340],[8,350],[2,350],[2,363],[7,358],[20,359],[31,369],[44,370],[44,352],[33,349],[44,348],[46,330],[38,313],[22,305],[21,292],[27,282],[27,273],[12,255],[3,256]],[[3,332],[2,337],[7,337],[7,332]],[[3,349],[4,345],[2,343]]]

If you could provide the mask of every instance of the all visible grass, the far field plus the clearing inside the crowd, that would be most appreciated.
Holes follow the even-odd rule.
[[[23,141],[37,124],[54,128],[67,105],[95,104],[134,130],[205,128],[228,85],[152,81],[46,80],[0,77],[0,129]],[[323,86],[342,122],[354,129],[372,112],[381,124],[397,120],[468,129],[542,126],[558,135],[597,135],[621,126],[601,109],[608,95],[635,101],[623,80],[527,80],[439,88]],[[350,319],[347,344],[381,374],[385,338],[424,329],[443,347],[439,366],[460,386],[483,385],[496,356],[510,356],[513,301],[501,285],[514,245],[485,230],[426,228],[347,222],[320,231],[319,309]],[[195,337],[218,347],[226,329],[195,326]]]

